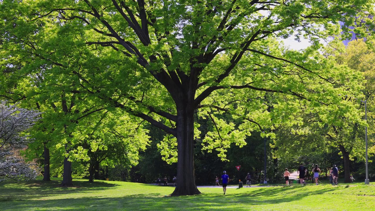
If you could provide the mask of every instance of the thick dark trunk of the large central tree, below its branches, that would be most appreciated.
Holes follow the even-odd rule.
[[[186,105],[185,105],[186,106]],[[183,106],[181,106],[183,107]],[[177,182],[172,196],[200,194],[194,174],[193,111],[177,108]]]

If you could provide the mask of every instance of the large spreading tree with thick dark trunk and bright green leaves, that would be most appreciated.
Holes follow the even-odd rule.
[[[338,98],[332,90],[342,84],[329,62],[318,63],[316,45],[298,53],[279,48],[271,38],[295,34],[317,44],[317,36],[333,33],[332,23],[354,24],[351,17],[371,11],[372,1],[5,0],[1,6],[7,11],[1,23],[3,49],[12,52],[8,60],[47,63],[43,75],[75,80],[66,90],[71,94],[95,96],[171,134],[166,140],[177,140],[178,152],[173,194],[191,195],[199,193],[195,110],[215,122],[205,141],[224,157],[230,143],[246,144],[252,130],[277,119],[264,107],[265,92],[328,105]],[[79,68],[70,68],[73,60]],[[288,118],[282,114],[288,106],[278,99],[276,116]],[[212,107],[232,110],[245,122],[234,130]]]

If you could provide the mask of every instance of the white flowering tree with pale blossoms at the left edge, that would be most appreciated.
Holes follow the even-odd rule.
[[[19,151],[31,141],[26,132],[39,119],[39,115],[37,111],[0,102],[0,181],[36,178],[36,170],[24,161]]]

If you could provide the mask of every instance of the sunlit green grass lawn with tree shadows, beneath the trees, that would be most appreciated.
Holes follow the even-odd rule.
[[[198,196],[168,197],[173,187],[74,179],[75,187],[51,182],[0,183],[0,211],[28,210],[375,210],[375,184],[292,187],[200,188]]]

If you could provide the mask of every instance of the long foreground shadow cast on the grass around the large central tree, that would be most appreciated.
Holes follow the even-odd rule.
[[[303,187],[301,187],[303,188]],[[160,197],[160,193],[133,194],[126,197],[82,197],[75,199],[23,200],[3,202],[3,211],[10,210],[188,210],[188,211],[222,211],[249,210],[251,206],[278,204],[301,200],[304,197],[334,191],[335,188],[319,190],[296,188],[260,188],[256,191],[232,193],[227,195],[206,193],[198,196]],[[11,203],[11,204],[10,204]],[[10,208],[10,205],[12,208]],[[243,206],[246,205],[246,206]],[[314,206],[314,205],[312,205]],[[259,207],[258,207],[259,208]],[[313,207],[312,207],[313,208]]]

